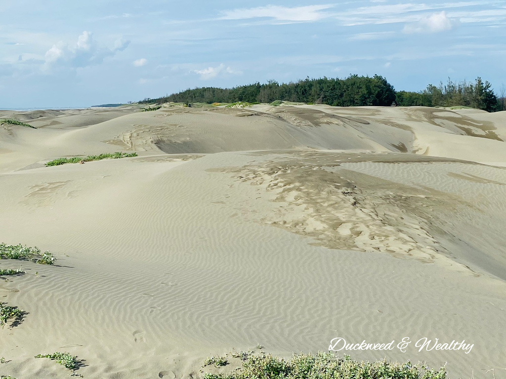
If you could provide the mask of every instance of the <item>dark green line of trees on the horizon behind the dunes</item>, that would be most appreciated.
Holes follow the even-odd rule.
[[[480,77],[474,82],[448,83],[439,86],[430,84],[419,92],[396,91],[383,76],[350,75],[347,78],[319,78],[290,83],[270,80],[241,85],[234,88],[200,87],[187,89],[157,99],[144,99],[141,104],[175,103],[271,103],[276,100],[328,104],[338,107],[353,106],[466,106],[489,112],[505,110],[504,86],[501,97],[497,97],[488,81]]]

